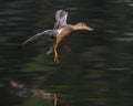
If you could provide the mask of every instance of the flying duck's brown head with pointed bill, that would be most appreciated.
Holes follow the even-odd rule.
[[[75,24],[75,29],[76,29],[76,30],[93,31],[93,29],[92,29],[91,26],[86,25],[86,24],[83,23],[83,22],[76,23],[76,24]]]

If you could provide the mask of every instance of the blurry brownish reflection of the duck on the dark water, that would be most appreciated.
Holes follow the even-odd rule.
[[[28,88],[25,84],[19,83],[18,81],[9,82],[12,89],[10,91],[11,95],[18,97],[42,97],[49,106],[60,106],[58,98],[58,93],[50,93],[44,89]],[[66,99],[63,106],[69,106],[69,100]]]

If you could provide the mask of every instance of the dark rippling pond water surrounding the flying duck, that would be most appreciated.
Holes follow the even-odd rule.
[[[68,23],[94,31],[73,33],[72,52],[60,50],[59,64],[45,55],[45,39],[18,49],[53,29],[59,9],[69,12]],[[1,106],[53,106],[54,94],[58,106],[133,106],[132,11],[132,0],[1,0]]]

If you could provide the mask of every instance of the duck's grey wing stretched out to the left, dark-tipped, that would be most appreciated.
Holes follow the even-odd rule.
[[[45,36],[45,35],[47,35],[48,38],[53,38],[53,36],[55,36],[57,34],[58,34],[58,31],[57,31],[57,30],[45,30],[45,31],[43,31],[43,32],[41,32],[41,33],[38,33],[38,34],[29,38],[27,41],[24,41],[24,42],[22,43],[22,45],[25,45],[27,43],[37,41],[37,40],[39,40],[39,39],[41,39],[41,38],[43,38],[43,36]]]

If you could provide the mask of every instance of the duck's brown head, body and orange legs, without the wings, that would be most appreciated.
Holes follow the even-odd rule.
[[[60,46],[63,46],[66,52],[71,51],[71,49],[68,44],[68,41],[69,41],[72,32],[75,32],[78,30],[92,31],[93,29],[88,26],[85,23],[80,22],[75,25],[66,24],[66,25],[60,28],[59,30],[61,30],[61,32],[57,35],[57,38],[53,41],[54,62],[55,63],[59,62],[58,49]]]

